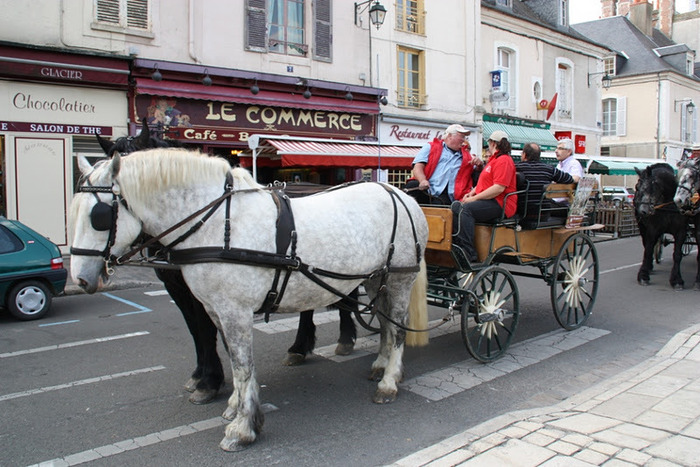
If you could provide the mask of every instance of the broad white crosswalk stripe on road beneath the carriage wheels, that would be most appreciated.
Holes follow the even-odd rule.
[[[439,401],[609,333],[610,331],[586,326],[574,331],[559,329],[511,346],[506,354],[495,362],[483,364],[468,359],[412,378],[400,384],[400,387],[431,401]]]

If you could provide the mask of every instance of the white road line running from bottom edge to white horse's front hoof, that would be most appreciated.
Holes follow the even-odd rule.
[[[279,410],[273,404],[269,403],[262,404],[261,408],[263,413],[270,413],[274,412],[275,410]],[[221,417],[209,418],[207,420],[201,420],[199,422],[180,425],[175,428],[150,433],[145,436],[139,436],[138,438],[125,439],[123,441],[119,441],[118,443],[88,449],[87,451],[70,454],[66,457],[58,457],[56,459],[40,462],[29,467],[83,464],[85,462],[104,459],[105,457],[116,456],[117,454],[121,454],[126,451],[133,451],[135,449],[162,443],[163,441],[169,441],[171,439],[182,438],[183,436],[211,430],[212,428],[220,428],[226,426],[228,423],[230,423],[228,420]]]

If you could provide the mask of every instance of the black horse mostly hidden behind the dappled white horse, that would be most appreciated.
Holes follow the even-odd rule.
[[[143,119],[143,129],[137,137],[122,137],[108,141],[97,135],[97,140],[109,157],[115,152],[128,154],[143,149],[177,146],[178,143],[163,140],[152,135],[146,119]],[[185,384],[185,389],[192,393],[189,400],[193,404],[211,402],[223,386],[224,371],[221,359],[216,351],[217,328],[207,314],[202,303],[197,300],[185,283],[182,273],[177,269],[155,269],[156,276],[163,282],[165,289],[182,312],[187,328],[194,340],[197,354],[197,367]],[[354,300],[357,291],[350,294],[350,299],[338,302],[340,310],[340,338],[335,349],[337,355],[348,355],[353,351],[357,329],[351,314],[357,310]],[[311,353],[316,345],[316,326],[313,323],[313,310],[301,313],[299,328],[294,344],[287,350],[285,365],[303,363],[306,355]]]

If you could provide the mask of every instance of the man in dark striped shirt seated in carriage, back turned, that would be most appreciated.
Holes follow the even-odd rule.
[[[549,216],[552,213],[553,203],[549,199],[543,199],[547,185],[550,183],[574,183],[574,178],[561,170],[540,160],[541,150],[539,145],[535,143],[526,143],[523,146],[523,152],[520,155],[520,162],[515,164],[515,170],[523,174],[525,180],[530,182],[527,191],[527,211],[526,219],[529,220],[545,220],[539,219],[539,213],[543,216]],[[524,198],[524,197],[523,197]],[[525,199],[518,200],[518,211],[522,212],[525,206],[521,206]],[[542,205],[540,205],[542,203]],[[557,212],[559,214],[559,212]],[[561,217],[566,217],[566,210]]]

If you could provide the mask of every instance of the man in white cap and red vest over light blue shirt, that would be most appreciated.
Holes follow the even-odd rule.
[[[435,138],[418,152],[413,180],[406,188],[419,203],[449,205],[472,189],[474,166],[483,162],[469,153],[469,133],[462,125],[450,125],[442,139]]]

